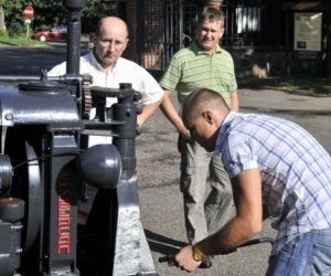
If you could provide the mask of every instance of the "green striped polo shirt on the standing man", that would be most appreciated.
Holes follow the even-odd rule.
[[[233,59],[220,45],[210,54],[192,43],[173,55],[160,85],[177,91],[180,103],[196,88],[210,88],[218,92],[231,107],[231,94],[237,91]]]

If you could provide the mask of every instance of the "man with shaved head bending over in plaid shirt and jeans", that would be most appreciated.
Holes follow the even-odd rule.
[[[192,139],[223,160],[236,206],[217,232],[183,247],[171,263],[192,272],[261,231],[277,230],[267,276],[331,275],[331,157],[302,127],[261,114],[231,112],[200,88],[183,103]]]

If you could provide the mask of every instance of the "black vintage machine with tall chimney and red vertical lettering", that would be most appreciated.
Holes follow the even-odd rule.
[[[64,76],[0,76],[0,275],[158,275],[140,222],[135,139],[139,92],[79,75],[81,13],[68,12]],[[106,97],[117,104],[106,108]],[[96,118],[88,119],[90,108]],[[86,146],[87,137],[113,144]],[[77,224],[86,184],[97,188]]]

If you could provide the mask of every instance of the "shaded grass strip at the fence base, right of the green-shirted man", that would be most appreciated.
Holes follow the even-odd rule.
[[[274,88],[307,95],[331,96],[331,84],[327,83],[327,78],[308,73],[292,74],[289,77],[247,76],[238,78],[237,82],[243,88]]]

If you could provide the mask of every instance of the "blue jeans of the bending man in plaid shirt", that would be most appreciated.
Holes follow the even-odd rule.
[[[302,234],[270,256],[267,276],[331,275],[331,229]]]

